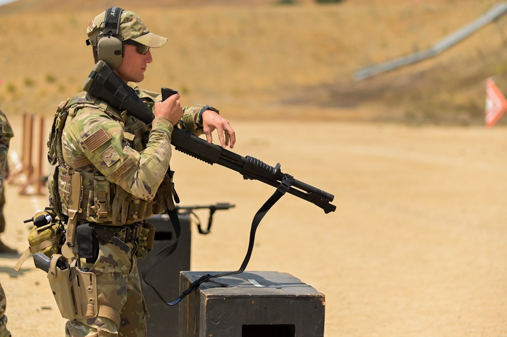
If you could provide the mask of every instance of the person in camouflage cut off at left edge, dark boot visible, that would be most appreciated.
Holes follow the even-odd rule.
[[[4,205],[5,205],[5,191],[4,191],[4,180],[9,174],[9,166],[7,164],[7,152],[9,151],[9,142],[14,137],[11,125],[7,120],[7,117],[0,109],[0,233],[5,231],[5,217],[4,217]],[[0,240],[0,253],[17,253],[18,251],[14,248],[8,247],[5,243]]]

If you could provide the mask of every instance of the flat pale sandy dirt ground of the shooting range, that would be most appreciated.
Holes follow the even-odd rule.
[[[21,119],[10,120],[21,156]],[[335,195],[330,214],[284,196],[262,221],[247,268],[289,273],[323,292],[326,337],[507,335],[505,127],[232,125],[235,152],[279,162]],[[236,270],[273,188],[177,152],[171,167],[182,205],[236,205],[216,213],[210,235],[194,231],[191,269]],[[30,228],[22,221],[47,197],[20,189],[7,185],[2,239],[21,252]],[[63,335],[46,276],[31,258],[15,272],[17,258],[0,256],[13,336]]]

